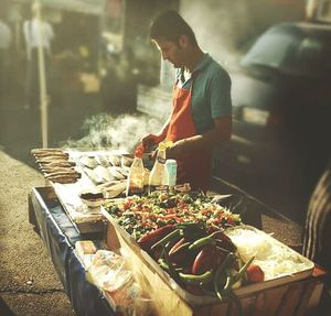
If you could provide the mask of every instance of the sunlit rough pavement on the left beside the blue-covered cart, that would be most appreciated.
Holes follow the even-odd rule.
[[[0,151],[0,315],[74,315],[46,248],[28,220],[28,194],[43,177]],[[1,306],[1,304],[0,304]],[[3,313],[3,314],[2,314]]]

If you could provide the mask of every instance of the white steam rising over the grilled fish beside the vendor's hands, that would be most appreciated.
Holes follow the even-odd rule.
[[[68,148],[95,150],[111,149],[132,152],[140,140],[149,133],[157,133],[162,123],[145,115],[97,115],[84,122],[86,137],[78,141],[68,140]]]

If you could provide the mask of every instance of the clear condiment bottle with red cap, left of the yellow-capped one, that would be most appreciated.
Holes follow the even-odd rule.
[[[126,195],[135,195],[143,193],[143,176],[145,168],[142,163],[143,149],[141,146],[137,148],[135,152],[135,159],[131,164],[128,179]]]

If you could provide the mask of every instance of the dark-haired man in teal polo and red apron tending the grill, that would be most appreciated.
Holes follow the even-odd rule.
[[[206,190],[212,149],[232,133],[231,78],[200,48],[192,29],[174,11],[166,11],[152,22],[150,39],[178,70],[172,112],[163,129],[145,137],[142,144],[172,141],[167,159],[178,162],[178,183]]]

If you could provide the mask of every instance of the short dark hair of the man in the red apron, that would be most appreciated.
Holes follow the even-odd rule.
[[[173,10],[162,12],[149,28],[149,37],[151,40],[162,39],[179,43],[179,37],[181,35],[186,35],[191,44],[197,45],[191,26]]]

